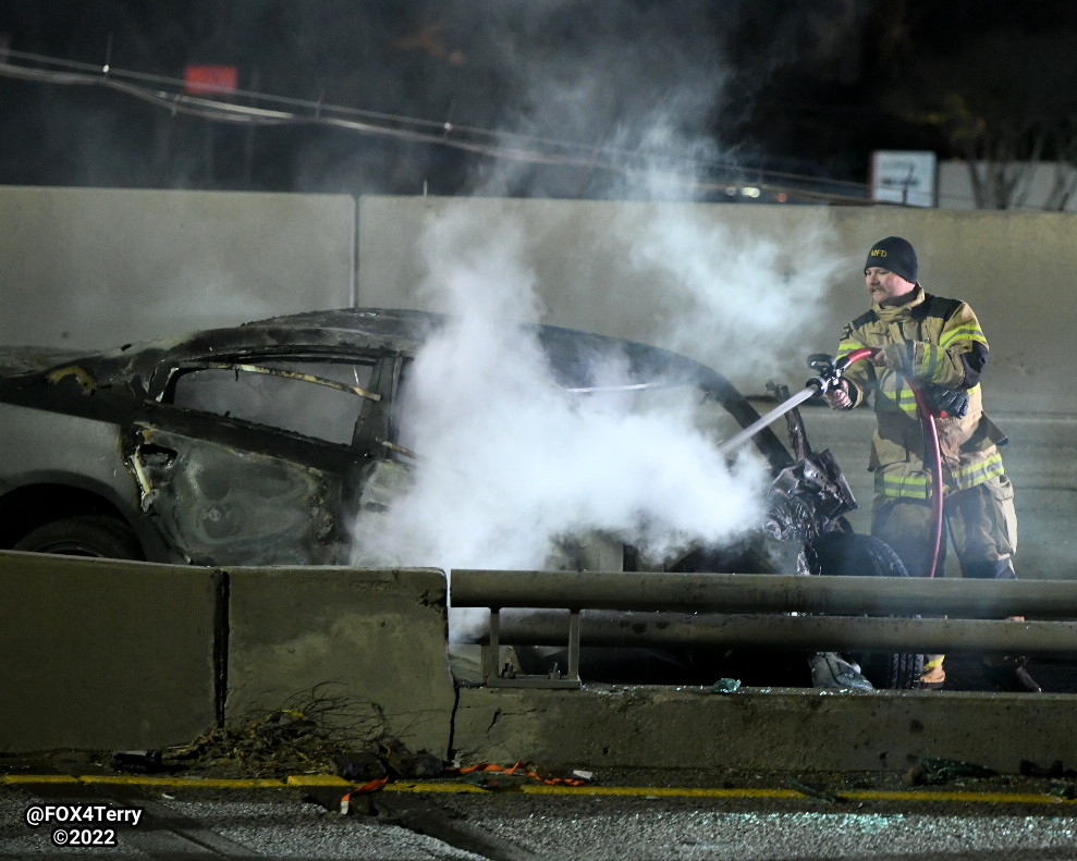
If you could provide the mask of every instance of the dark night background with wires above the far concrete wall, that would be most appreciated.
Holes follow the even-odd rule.
[[[1077,137],[1069,0],[2,0],[0,34],[51,74],[0,77],[7,184],[631,197],[657,165],[695,181],[674,195],[855,198],[874,149]],[[106,64],[170,95],[233,66],[224,101],[293,120],[169,110]]]

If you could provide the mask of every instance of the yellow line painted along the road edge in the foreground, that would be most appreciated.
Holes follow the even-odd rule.
[[[162,786],[173,789],[284,789],[286,787],[339,787],[346,789],[360,784],[345,780],[335,775],[303,774],[292,775],[285,780],[274,778],[210,778],[210,777],[160,777],[152,775],[58,775],[58,774],[8,774],[0,775],[0,784],[97,784],[120,786]],[[627,796],[636,798],[730,798],[730,799],[797,799],[811,798],[798,789],[770,788],[707,788],[682,786],[550,786],[547,784],[514,784],[512,791],[527,795],[556,796]],[[387,784],[382,792],[487,792],[491,790],[479,784],[397,782]],[[494,789],[494,792],[498,790]],[[836,801],[932,801],[971,802],[990,804],[1067,804],[1065,799],[1048,792],[969,792],[934,789],[827,789]]]

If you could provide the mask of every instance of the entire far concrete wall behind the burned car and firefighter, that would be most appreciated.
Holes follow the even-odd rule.
[[[800,380],[866,307],[860,269],[896,233],[921,281],[972,303],[992,346],[992,413],[1077,414],[1069,282],[1077,213],[0,187],[0,343],[109,347],[271,313],[350,305],[429,307],[424,237],[534,273],[543,321],[669,346],[747,392]],[[701,254],[706,284],[744,304],[688,300],[685,272],[638,253]],[[512,247],[506,247],[511,242]],[[680,243],[680,245],[677,245]],[[439,259],[439,265],[443,258]],[[357,272],[357,279],[356,279]],[[760,276],[790,302],[760,333]],[[798,281],[803,281],[798,285]],[[762,285],[766,287],[766,284]],[[715,287],[717,290],[717,287]],[[711,297],[713,298],[713,297]],[[736,307],[735,307],[736,306]],[[688,308],[694,319],[686,328]],[[713,318],[713,319],[710,319]]]

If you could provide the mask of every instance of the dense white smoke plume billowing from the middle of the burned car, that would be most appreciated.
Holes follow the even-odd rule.
[[[388,512],[360,517],[363,561],[543,568],[589,532],[661,561],[756,526],[764,466],[750,454],[726,466],[698,391],[634,413],[627,395],[554,384],[534,330],[518,324],[541,310],[518,225],[502,220],[480,244],[464,241],[468,227],[450,214],[423,247],[430,303],[453,316],[407,383],[403,440],[423,459]],[[592,379],[629,382],[619,358],[597,357]]]

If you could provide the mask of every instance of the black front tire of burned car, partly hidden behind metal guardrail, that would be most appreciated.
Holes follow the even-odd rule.
[[[819,574],[859,577],[908,577],[893,548],[873,536],[828,532],[815,542]],[[913,618],[916,618],[915,616]],[[855,653],[846,655],[876,688],[909,690],[919,687],[922,654]]]

